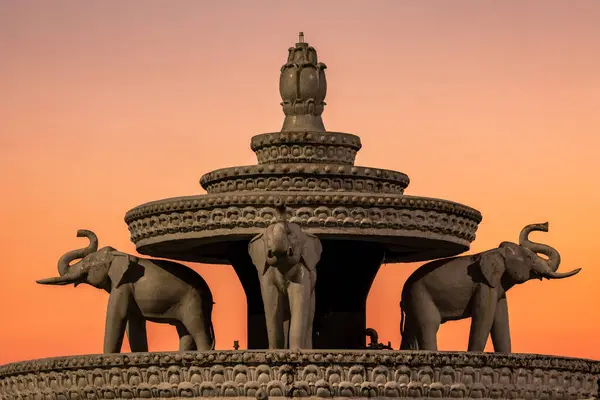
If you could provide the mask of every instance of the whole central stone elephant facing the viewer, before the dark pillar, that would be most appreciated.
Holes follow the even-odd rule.
[[[248,244],[258,271],[269,349],[311,349],[321,241],[288,222],[280,200],[276,211],[275,222]]]

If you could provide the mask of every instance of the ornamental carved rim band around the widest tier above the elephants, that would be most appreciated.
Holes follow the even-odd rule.
[[[451,235],[472,241],[481,220],[479,213],[464,206],[408,196],[318,194],[284,198],[288,204],[290,222],[301,227],[403,229]],[[264,228],[275,215],[272,206],[265,204],[271,203],[272,199],[271,195],[207,195],[201,199],[182,199],[141,206],[141,209],[135,209],[126,216],[126,222],[134,243],[167,233],[236,227]],[[348,206],[335,206],[339,202]],[[244,206],[253,203],[259,205]],[[295,203],[314,205],[294,207]]]

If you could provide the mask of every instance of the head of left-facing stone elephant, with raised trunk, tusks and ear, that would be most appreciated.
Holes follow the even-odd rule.
[[[79,230],[77,237],[87,237],[90,241],[86,248],[72,250],[63,255],[58,261],[59,276],[36,281],[42,285],[68,285],[75,287],[87,283],[99,289],[110,291],[112,285],[119,285],[129,265],[139,259],[135,256],[121,253],[106,246],[98,250],[98,238],[92,231]],[[72,261],[79,262],[69,265]]]

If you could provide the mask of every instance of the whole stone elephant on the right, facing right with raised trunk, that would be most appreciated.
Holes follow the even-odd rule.
[[[483,351],[491,334],[494,351],[510,353],[507,290],[530,279],[568,278],[581,270],[556,272],[560,254],[531,242],[533,231],[548,232],[548,223],[525,226],[518,245],[502,242],[495,249],[418,268],[402,289],[400,349],[435,351],[440,324],[471,317],[468,351]]]

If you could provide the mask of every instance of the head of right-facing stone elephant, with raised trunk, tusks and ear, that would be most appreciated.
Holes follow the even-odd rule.
[[[568,278],[581,271],[578,268],[570,272],[556,272],[560,265],[560,254],[548,245],[531,242],[528,237],[533,231],[548,232],[548,223],[527,225],[519,235],[519,244],[502,242],[498,248],[479,255],[478,265],[491,287],[498,286],[503,276],[512,286],[536,278]],[[538,253],[548,259],[538,256]]]

